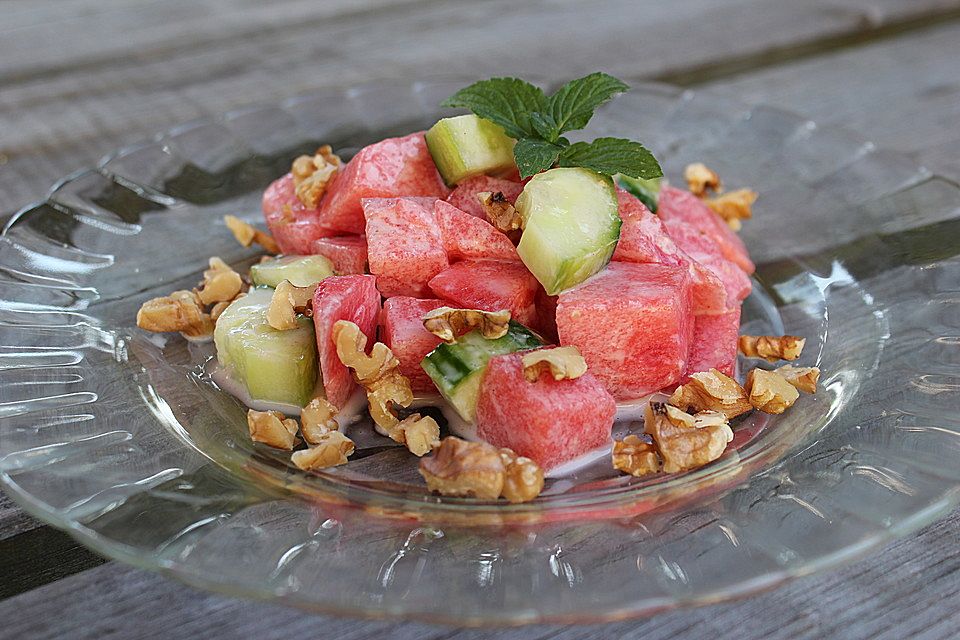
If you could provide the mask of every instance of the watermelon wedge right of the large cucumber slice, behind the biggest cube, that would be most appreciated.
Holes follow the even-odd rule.
[[[690,272],[694,313],[722,313],[729,308],[723,282],[676,245],[660,218],[623,189],[617,189],[617,200],[623,224],[614,260],[685,267]]]

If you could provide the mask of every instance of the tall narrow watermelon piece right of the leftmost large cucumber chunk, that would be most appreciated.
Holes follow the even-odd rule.
[[[367,335],[369,348],[376,339],[379,316],[380,293],[373,276],[332,276],[324,279],[313,294],[313,326],[323,388],[327,400],[339,408],[343,408],[357,385],[337,355],[331,336],[333,325],[338,320],[355,323]]]

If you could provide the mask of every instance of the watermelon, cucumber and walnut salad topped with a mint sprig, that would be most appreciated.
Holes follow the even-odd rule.
[[[349,464],[360,410],[443,495],[525,502],[597,452],[638,477],[709,464],[738,416],[782,413],[819,370],[738,371],[804,342],[740,335],[755,193],[701,163],[668,184],[638,142],[567,140],[625,90],[602,73],[549,96],[494,78],[427,131],[292,159],[263,193],[268,231],[225,220],[260,262],[211,258],[137,324],[212,338],[251,438],[307,472]],[[451,435],[411,410],[426,405]],[[642,431],[614,440],[637,407]]]

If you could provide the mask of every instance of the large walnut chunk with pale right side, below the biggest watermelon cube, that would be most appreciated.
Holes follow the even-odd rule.
[[[644,426],[653,437],[666,473],[696,469],[713,462],[733,440],[733,431],[725,422],[700,429],[674,424],[668,417],[667,405],[662,402],[648,405]]]

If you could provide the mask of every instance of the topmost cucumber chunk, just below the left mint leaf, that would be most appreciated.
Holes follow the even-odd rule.
[[[427,148],[448,186],[479,175],[501,175],[516,167],[513,138],[475,115],[444,118],[427,131]]]

